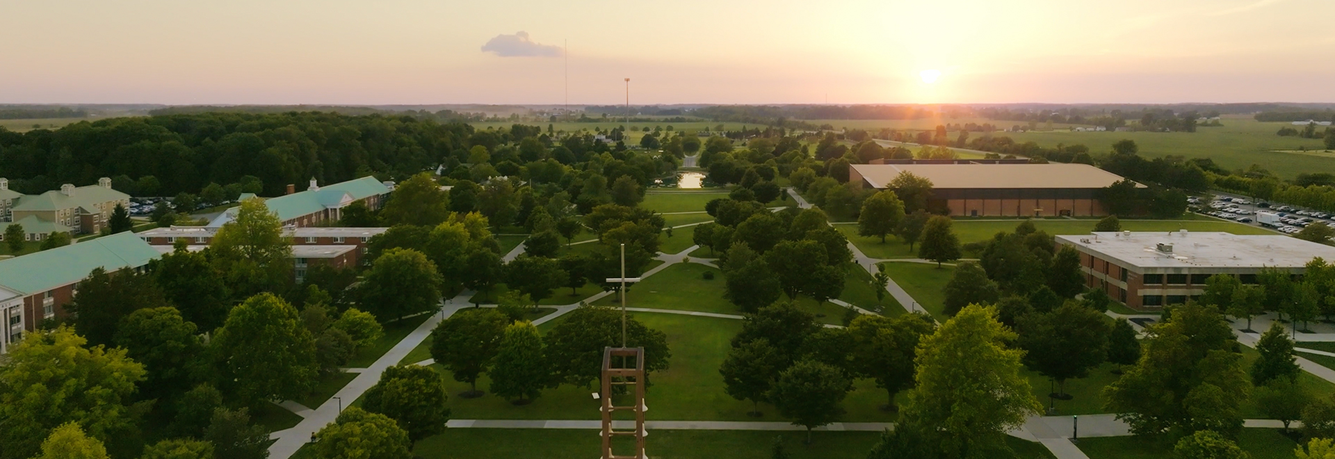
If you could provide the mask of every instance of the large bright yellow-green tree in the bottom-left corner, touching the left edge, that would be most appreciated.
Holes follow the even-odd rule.
[[[120,348],[85,347],[68,327],[29,332],[0,366],[0,458],[28,459],[65,423],[111,440],[134,430],[128,404],[144,367]]]

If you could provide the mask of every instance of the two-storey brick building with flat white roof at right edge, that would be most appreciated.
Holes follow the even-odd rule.
[[[1302,275],[1312,258],[1335,260],[1335,247],[1282,235],[1227,232],[1093,232],[1056,236],[1080,252],[1087,286],[1136,310],[1200,296],[1216,274],[1255,284],[1263,268]]]

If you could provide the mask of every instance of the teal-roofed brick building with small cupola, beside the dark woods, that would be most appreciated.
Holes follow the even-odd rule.
[[[292,185],[287,185],[287,195],[267,199],[264,200],[264,205],[268,205],[270,211],[278,213],[278,219],[283,221],[283,225],[311,227],[324,221],[338,221],[343,216],[342,209],[355,201],[366,204],[372,211],[379,209],[388,199],[390,191],[392,189],[388,184],[372,176],[324,187],[320,187],[315,179],[311,179],[311,184],[306,191],[296,192]],[[222,227],[224,223],[231,221],[235,215],[236,208],[230,208],[210,221],[208,227]]]

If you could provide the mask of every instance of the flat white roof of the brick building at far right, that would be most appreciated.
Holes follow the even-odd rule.
[[[1318,256],[1335,262],[1335,247],[1283,235],[1092,232],[1059,235],[1056,240],[1141,268],[1302,268]],[[1160,244],[1172,248],[1160,250]]]

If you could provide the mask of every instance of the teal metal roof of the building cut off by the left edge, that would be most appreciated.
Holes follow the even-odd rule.
[[[88,278],[95,268],[138,268],[156,259],[158,251],[132,232],[0,260],[0,287],[36,295]]]

